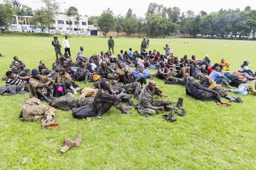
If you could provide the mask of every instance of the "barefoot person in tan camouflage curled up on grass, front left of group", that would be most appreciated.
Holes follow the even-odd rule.
[[[55,108],[44,105],[39,99],[33,97],[21,107],[19,119],[26,121],[41,120],[41,127],[44,129],[58,129],[60,125],[55,123]]]

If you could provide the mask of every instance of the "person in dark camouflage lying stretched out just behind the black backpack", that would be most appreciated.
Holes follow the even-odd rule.
[[[93,105],[94,97],[82,97],[79,99],[74,98],[71,93],[67,96],[61,96],[55,101],[49,102],[49,105],[54,108],[59,108],[65,111],[71,110],[72,108],[79,108],[81,106],[91,106]]]

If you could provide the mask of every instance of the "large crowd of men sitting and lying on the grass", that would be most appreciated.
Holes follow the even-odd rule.
[[[80,49],[83,50],[82,47]],[[117,56],[111,51],[101,51],[91,57],[83,57],[81,53],[75,61],[64,53],[52,63],[52,69],[40,61],[38,69],[33,68],[31,71],[18,57],[14,57],[10,64],[11,71],[6,72],[6,86],[0,87],[0,93],[13,95],[29,91],[31,99],[22,106],[19,117],[27,121],[41,120],[41,127],[46,129],[60,127],[55,123],[55,108],[70,110],[90,105],[96,109],[97,117],[101,118],[102,113],[114,106],[124,114],[131,114],[129,106],[122,103],[134,106],[132,97],[139,101],[141,109],[150,113],[164,111],[164,106],[175,102],[178,102],[177,107],[183,108],[183,99],[155,101],[155,95],[161,98],[166,95],[162,94],[153,80],[147,84],[147,78],[163,79],[165,84],[183,85],[187,95],[204,101],[215,100],[217,105],[230,106],[221,97],[230,102],[242,102],[240,97],[227,94],[228,91],[256,95],[256,73],[248,67],[249,62],[244,61],[234,71],[225,59],[211,65],[208,55],[202,60],[194,55],[189,59],[185,55],[178,61],[170,53],[168,44],[164,49],[165,55],[155,50],[147,52],[145,48],[140,53],[132,52],[131,48],[125,53],[121,50]],[[150,69],[157,69],[157,72],[154,74]],[[94,84],[92,88],[79,88],[76,81]],[[230,89],[223,89],[221,85]],[[78,99],[73,96],[77,92],[80,92]],[[41,100],[49,105],[44,105]]]

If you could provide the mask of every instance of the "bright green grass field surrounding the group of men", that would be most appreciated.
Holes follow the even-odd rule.
[[[141,38],[113,38],[116,55],[120,49],[140,49]],[[59,37],[61,42],[62,39]],[[52,68],[55,52],[51,41],[52,37],[0,36],[0,52],[6,55],[0,57],[1,76],[10,70],[14,56],[30,69],[38,68],[40,60]],[[80,46],[84,46],[86,57],[106,52],[107,41],[104,37],[70,37],[71,54],[75,56]],[[208,54],[212,65],[224,57],[233,69],[249,60],[250,68],[256,70],[256,41],[150,39],[149,50],[163,53],[166,43],[179,59],[185,54],[203,59]],[[41,122],[18,119],[20,107],[29,99],[28,94],[0,96],[0,170],[256,169],[256,98],[253,95],[241,96],[243,103],[222,107],[213,101],[202,102],[186,96],[185,87],[164,85],[161,80],[156,82],[163,94],[168,94],[167,99],[184,98],[187,114],[175,115],[177,122],[166,122],[161,118],[164,113],[144,117],[133,109],[132,115],[123,115],[115,108],[102,119],[94,117],[87,122],[74,119],[71,111],[57,109],[55,121],[61,127],[43,130]],[[64,137],[75,139],[78,133],[84,137],[80,147],[73,147],[64,154],[57,150],[63,145]]]

